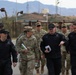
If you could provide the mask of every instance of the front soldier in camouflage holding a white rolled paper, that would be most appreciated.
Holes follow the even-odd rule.
[[[19,68],[21,75],[33,75],[35,60],[37,60],[37,40],[32,33],[31,27],[28,28],[25,36],[17,41],[17,51],[20,54]]]

